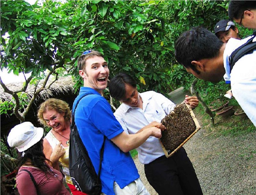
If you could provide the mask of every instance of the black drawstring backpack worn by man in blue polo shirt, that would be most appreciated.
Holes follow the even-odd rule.
[[[105,136],[102,148],[100,150],[100,162],[98,175],[92,165],[88,152],[79,136],[75,124],[75,109],[79,101],[88,94],[78,99],[72,113],[72,123],[70,125],[70,144],[69,144],[69,172],[72,182],[77,190],[90,195],[101,194],[100,169],[104,151]]]

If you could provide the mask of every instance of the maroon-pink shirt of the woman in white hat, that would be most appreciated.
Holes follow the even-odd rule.
[[[31,172],[37,183],[41,195],[70,195],[68,190],[63,185],[63,176],[61,172],[50,167],[53,170],[53,175],[47,174],[36,167],[20,167],[16,177],[16,184],[20,195],[37,194],[36,187],[31,180],[28,172],[20,171],[27,169]]]

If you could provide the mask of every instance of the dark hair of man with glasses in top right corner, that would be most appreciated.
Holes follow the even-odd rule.
[[[229,2],[229,18],[231,20],[240,19],[243,12],[248,9],[256,9],[255,1],[230,1]]]

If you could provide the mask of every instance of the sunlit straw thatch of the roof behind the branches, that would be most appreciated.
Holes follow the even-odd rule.
[[[54,80],[54,78],[49,78],[45,88],[49,87],[49,84]],[[43,84],[43,80],[40,80],[38,83],[38,86],[36,89],[38,89],[39,87],[41,87]],[[69,94],[69,93],[74,93],[74,81],[72,80],[71,76],[67,76],[67,77],[60,77],[58,78],[58,80],[56,80],[49,89],[43,90],[38,94],[38,97],[36,98],[36,101],[38,101],[39,99],[42,100],[46,100],[48,98],[52,98],[53,96],[55,96],[56,94]],[[9,83],[6,84],[6,87],[9,90],[12,91],[16,91],[19,90],[23,87],[23,82],[16,82],[16,83]],[[34,90],[35,90],[35,84],[34,85],[28,85],[27,87],[27,95],[28,97],[33,96],[34,94]],[[0,91],[1,91],[1,100],[2,101],[12,101],[13,100],[13,96],[11,94],[5,93],[4,89],[2,88],[2,86],[0,87]]]

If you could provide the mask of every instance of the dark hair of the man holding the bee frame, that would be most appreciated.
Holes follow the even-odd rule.
[[[136,87],[136,81],[132,76],[126,73],[119,73],[114,76],[109,82],[109,93],[112,98],[116,100],[121,100],[125,96],[125,84],[129,84],[132,87]]]

